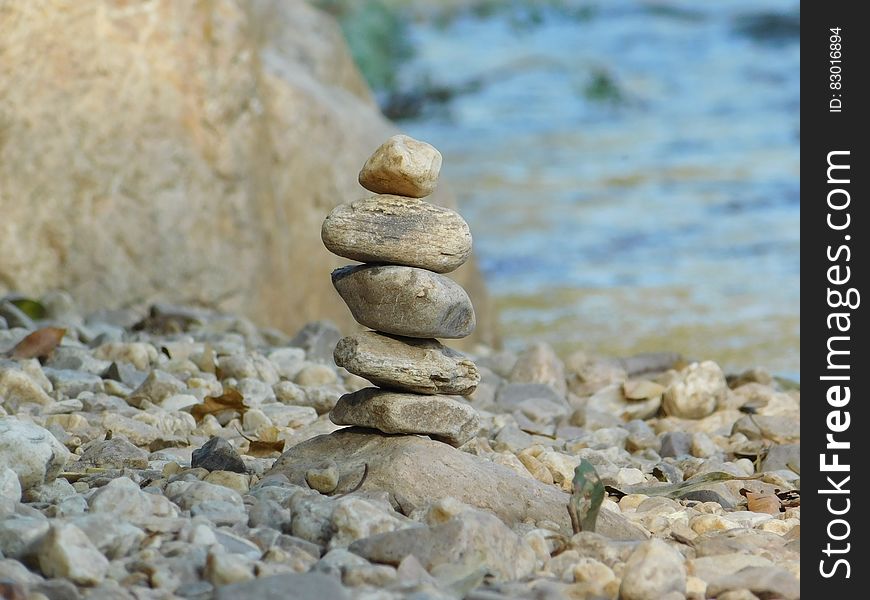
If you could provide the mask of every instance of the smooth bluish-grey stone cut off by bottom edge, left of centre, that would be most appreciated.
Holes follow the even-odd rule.
[[[322,573],[287,573],[258,577],[242,583],[220,586],[215,600],[347,600],[347,590],[334,578]]]

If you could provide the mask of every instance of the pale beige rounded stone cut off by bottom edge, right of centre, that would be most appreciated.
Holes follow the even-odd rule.
[[[683,556],[659,539],[641,543],[625,563],[620,599],[661,600],[674,592],[682,597],[686,593],[683,563]]]

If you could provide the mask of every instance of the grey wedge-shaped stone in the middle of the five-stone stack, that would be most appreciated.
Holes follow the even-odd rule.
[[[353,318],[384,333],[417,338],[463,338],[474,331],[465,290],[443,275],[393,265],[359,265],[332,272]]]

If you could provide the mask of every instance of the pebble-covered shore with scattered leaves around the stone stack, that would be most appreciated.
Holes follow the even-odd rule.
[[[328,323],[21,306],[0,303],[4,598],[799,597],[800,399],[762,370],[481,346],[454,448],[332,433],[370,384]],[[608,485],[595,533],[567,512],[581,459]],[[708,472],[755,478],[655,491]]]

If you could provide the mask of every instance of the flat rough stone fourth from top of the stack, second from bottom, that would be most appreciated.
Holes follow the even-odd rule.
[[[335,364],[377,386],[418,394],[471,394],[480,383],[474,363],[438,340],[366,331],[343,338]]]

